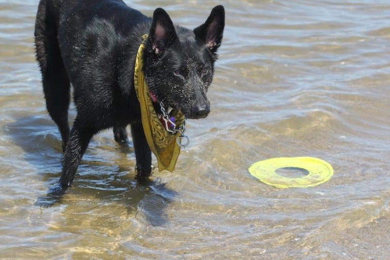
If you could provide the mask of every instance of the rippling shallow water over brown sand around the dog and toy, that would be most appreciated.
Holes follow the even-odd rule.
[[[188,27],[212,8],[128,3]],[[387,0],[226,1],[212,112],[187,123],[176,170],[137,184],[131,143],[107,130],[51,208],[34,205],[63,160],[35,62],[37,5],[0,1],[0,258],[390,259]],[[324,159],[335,175],[278,189],[247,170],[281,156]]]

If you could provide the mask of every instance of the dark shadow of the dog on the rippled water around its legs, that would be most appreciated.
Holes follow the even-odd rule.
[[[58,183],[64,155],[57,127],[44,115],[32,115],[17,119],[8,124],[6,129],[13,142],[24,150],[25,160],[41,173],[39,177],[47,186],[53,187]],[[116,146],[114,149],[117,150],[118,157],[133,153],[131,144],[120,146],[113,141],[113,146]],[[93,160],[91,156],[87,157]],[[129,159],[129,166],[121,168],[115,163],[99,161],[97,166],[88,158],[81,160],[75,181],[65,197],[46,193],[37,199],[36,205],[55,207],[69,201],[72,203],[74,199],[69,200],[69,196],[92,196],[102,200],[102,203],[115,201],[123,204],[129,214],[133,214],[134,210],[141,211],[150,224],[162,225],[166,222],[164,209],[177,193],[158,179],[143,182],[134,180],[134,172],[129,174],[134,164],[135,160],[133,162]]]

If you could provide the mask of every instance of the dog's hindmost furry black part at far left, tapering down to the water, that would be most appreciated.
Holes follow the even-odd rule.
[[[63,0],[39,2],[34,36],[37,61],[42,72],[46,108],[61,132],[64,150],[69,137],[70,83],[58,42],[62,2]]]

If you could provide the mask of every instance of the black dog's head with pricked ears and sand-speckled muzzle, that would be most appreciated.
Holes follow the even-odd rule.
[[[206,94],[224,27],[222,6],[214,7],[206,22],[193,31],[175,26],[162,8],[154,11],[144,72],[156,103],[180,109],[189,119],[207,117],[210,102]]]

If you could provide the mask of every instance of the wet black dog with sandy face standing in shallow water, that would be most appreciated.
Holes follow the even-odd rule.
[[[35,24],[37,60],[46,107],[65,152],[60,182],[51,194],[61,195],[71,185],[92,136],[110,127],[121,143],[131,125],[136,176],[148,178],[151,151],[133,82],[142,36],[148,34],[142,69],[150,91],[164,106],[200,119],[210,111],[206,93],[224,27],[222,6],[191,31],[174,25],[161,8],[148,18],[121,0],[41,0]],[[70,84],[77,117],[69,132]]]

